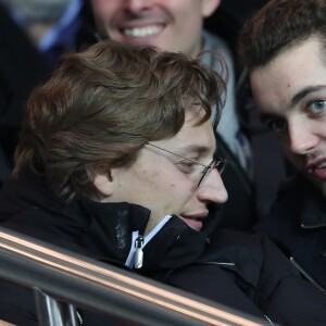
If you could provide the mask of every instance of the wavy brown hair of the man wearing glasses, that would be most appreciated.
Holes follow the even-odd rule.
[[[95,196],[96,173],[129,166],[148,141],[176,135],[189,105],[202,105],[202,124],[216,104],[217,122],[225,88],[198,60],[153,47],[104,40],[68,53],[29,98],[13,176],[27,165],[62,200]]]

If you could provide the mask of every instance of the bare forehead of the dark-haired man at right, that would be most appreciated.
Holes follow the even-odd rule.
[[[321,42],[311,38],[252,71],[250,80],[259,108],[277,111],[291,105],[304,89],[326,85],[326,66]]]

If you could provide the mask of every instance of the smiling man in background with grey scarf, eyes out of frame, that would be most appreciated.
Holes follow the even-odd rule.
[[[251,185],[250,147],[239,124],[236,103],[235,67],[231,51],[217,35],[203,30],[204,20],[218,10],[221,0],[91,0],[95,25],[101,39],[183,52],[196,58],[203,50],[216,51],[225,60],[229,79],[227,98],[217,127],[217,155],[228,156],[223,175],[230,201],[224,205],[222,224],[247,229],[255,221]],[[211,52],[202,62],[220,71]],[[237,208],[237,209],[236,209]]]

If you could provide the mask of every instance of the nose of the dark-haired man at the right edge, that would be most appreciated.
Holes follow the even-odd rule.
[[[309,122],[292,122],[288,124],[290,150],[294,154],[306,154],[318,143]]]

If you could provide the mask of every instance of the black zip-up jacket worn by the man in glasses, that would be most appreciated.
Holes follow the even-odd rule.
[[[283,325],[325,325],[326,296],[316,290],[265,237],[189,228],[166,217],[149,241],[143,266],[134,268],[133,233],[145,231],[150,212],[128,203],[58,201],[40,177],[25,173],[0,196],[0,225],[88,256],[128,265],[175,287]],[[0,284],[0,318],[36,325],[28,293]],[[20,298],[20,299],[17,299]],[[82,312],[83,314],[83,312]],[[83,315],[87,325],[87,314]],[[265,321],[267,321],[265,318]]]

